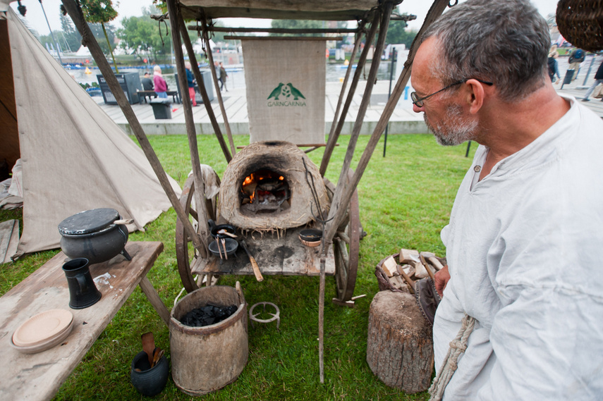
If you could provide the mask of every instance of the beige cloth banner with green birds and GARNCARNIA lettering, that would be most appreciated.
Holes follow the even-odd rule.
[[[324,40],[241,39],[250,142],[324,144]]]

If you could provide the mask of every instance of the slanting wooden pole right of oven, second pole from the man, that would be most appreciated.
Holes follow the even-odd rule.
[[[381,13],[377,11],[375,13],[375,18],[380,17],[381,21],[379,23],[379,30],[381,34],[377,39],[377,46],[375,46],[374,57],[372,59],[372,63],[370,66],[370,73],[367,78],[367,85],[365,88],[365,93],[363,94],[363,101],[360,103],[360,108],[358,109],[358,116],[356,117],[356,121],[354,124],[354,128],[352,130],[352,135],[350,137],[350,142],[348,144],[348,151],[346,152],[346,156],[343,159],[343,166],[341,168],[341,173],[339,173],[339,181],[337,182],[337,186],[335,188],[335,193],[333,195],[333,200],[331,201],[331,209],[329,209],[329,217],[327,218],[326,229],[327,233],[331,236],[327,235],[325,238],[327,243],[331,243],[334,235],[337,232],[337,227],[339,227],[339,223],[341,220],[337,222],[336,226],[333,226],[335,216],[337,218],[343,218],[343,214],[345,214],[348,204],[350,203],[350,199],[347,199],[347,203],[343,203],[342,197],[346,194],[347,190],[351,187],[351,183],[348,184],[348,170],[352,164],[352,158],[354,156],[354,152],[356,149],[356,143],[358,142],[358,136],[360,135],[360,128],[362,128],[363,120],[365,117],[366,110],[368,108],[368,104],[370,103],[370,95],[372,93],[372,88],[374,87],[374,82],[377,79],[377,70],[379,69],[379,61],[381,60],[381,54],[385,47],[385,32],[387,32],[387,27],[389,25],[389,16],[391,15],[391,10],[394,8],[394,4],[390,1],[384,4],[383,10]],[[342,214],[343,213],[343,214]]]

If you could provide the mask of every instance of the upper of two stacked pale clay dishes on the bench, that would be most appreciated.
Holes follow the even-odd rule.
[[[21,324],[13,334],[17,347],[35,347],[60,337],[73,323],[73,314],[65,309],[44,311]],[[71,331],[71,329],[70,329]]]

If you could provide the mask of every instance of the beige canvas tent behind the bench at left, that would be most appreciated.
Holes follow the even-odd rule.
[[[110,207],[137,230],[171,206],[142,150],[0,0],[0,160],[23,164],[18,254],[59,247],[58,224]],[[180,196],[178,183],[169,178]]]

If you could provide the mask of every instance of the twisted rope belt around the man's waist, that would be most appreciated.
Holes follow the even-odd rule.
[[[439,369],[439,373],[434,378],[434,382],[430,387],[430,401],[441,401],[442,397],[444,397],[446,385],[448,385],[456,368],[458,368],[456,364],[458,357],[467,349],[467,340],[474,327],[475,318],[465,314],[465,317],[461,321],[461,330],[458,331],[454,340],[450,342],[450,347],[446,353],[446,357],[444,357],[444,363],[441,364],[441,369]]]

